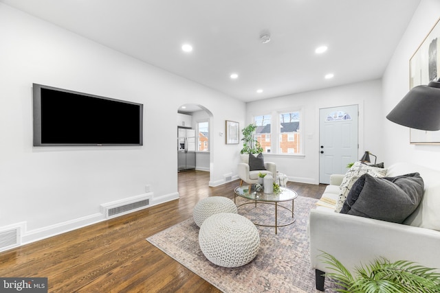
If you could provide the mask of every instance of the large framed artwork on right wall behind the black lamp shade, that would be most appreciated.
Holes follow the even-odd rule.
[[[440,78],[440,19],[410,58],[410,89]],[[440,130],[410,128],[410,143],[440,144]]]

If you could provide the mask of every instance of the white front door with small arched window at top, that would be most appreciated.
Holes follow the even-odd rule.
[[[358,161],[358,105],[320,109],[320,183]]]

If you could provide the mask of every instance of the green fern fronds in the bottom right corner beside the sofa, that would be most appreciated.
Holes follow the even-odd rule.
[[[338,259],[322,253],[321,260],[329,265],[333,272],[325,274],[336,280],[343,289],[342,293],[439,293],[440,274],[434,268],[419,266],[412,261],[391,263],[382,257],[368,266],[355,268],[353,276]]]

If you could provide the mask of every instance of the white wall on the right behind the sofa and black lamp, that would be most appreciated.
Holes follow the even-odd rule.
[[[389,165],[408,161],[440,169],[440,145],[410,145],[409,128],[394,124],[385,117],[409,91],[409,60],[440,16],[440,1],[422,0],[383,78],[383,113],[385,161]],[[439,113],[440,115],[440,113]]]

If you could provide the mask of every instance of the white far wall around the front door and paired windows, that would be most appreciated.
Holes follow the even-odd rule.
[[[378,115],[382,100],[380,80],[371,80],[337,86],[319,91],[286,95],[247,104],[247,124],[252,117],[270,113],[270,110],[302,109],[303,125],[300,126],[304,139],[304,156],[266,154],[265,161],[276,163],[279,172],[287,174],[289,180],[303,183],[319,183],[319,109],[334,106],[358,104],[359,157],[365,150],[383,160],[382,119]]]

